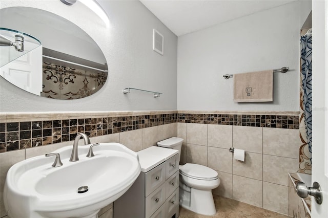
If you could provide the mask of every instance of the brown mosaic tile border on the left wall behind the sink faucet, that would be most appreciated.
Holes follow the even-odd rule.
[[[74,140],[176,122],[176,113],[0,123],[0,152]]]

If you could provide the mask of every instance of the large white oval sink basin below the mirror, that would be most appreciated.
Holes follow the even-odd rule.
[[[124,194],[139,176],[136,152],[119,143],[100,143],[94,157],[90,145],[78,146],[79,161],[70,162],[72,146],[55,150],[63,166],[52,167],[54,158],[37,156],[13,165],[4,189],[4,203],[11,218],[97,217],[99,210]],[[78,188],[88,186],[78,193]]]

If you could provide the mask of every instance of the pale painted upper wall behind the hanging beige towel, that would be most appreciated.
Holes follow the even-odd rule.
[[[298,111],[300,20],[297,1],[178,37],[177,109]],[[274,73],[273,102],[236,103],[222,77],[281,67],[290,71]]]

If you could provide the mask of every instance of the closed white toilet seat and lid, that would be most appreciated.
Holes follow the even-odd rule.
[[[218,173],[203,165],[187,163],[179,166],[180,174],[196,180],[217,180]]]

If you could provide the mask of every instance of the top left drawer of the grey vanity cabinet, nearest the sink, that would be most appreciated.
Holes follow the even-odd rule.
[[[165,182],[165,162],[145,173],[145,197]]]

